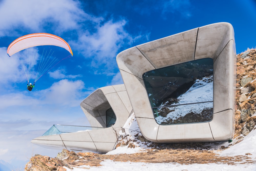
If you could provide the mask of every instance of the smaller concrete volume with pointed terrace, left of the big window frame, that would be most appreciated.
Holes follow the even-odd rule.
[[[99,88],[84,99],[80,106],[92,127],[84,127],[83,131],[80,129],[72,133],[58,130],[59,133],[55,135],[51,135],[53,131],[50,129],[45,136],[37,137],[31,142],[46,148],[67,148],[75,152],[106,153],[115,148],[119,135],[114,129],[120,129],[132,113],[124,84]],[[58,125],[53,127],[56,130]],[[87,130],[88,128],[92,130]]]

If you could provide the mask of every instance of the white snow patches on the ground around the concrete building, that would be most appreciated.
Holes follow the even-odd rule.
[[[138,130],[138,125],[134,114],[130,116],[130,119],[124,125],[125,128],[130,130]],[[234,144],[237,140],[234,140],[232,143]],[[137,143],[136,143],[137,144]],[[228,146],[230,143],[222,142],[220,144],[212,144],[212,147],[215,149],[220,146]],[[115,150],[106,153],[105,155],[113,155],[113,154],[131,154],[138,153],[146,149],[146,145],[143,143],[137,144],[135,148],[128,148],[127,146],[117,147]],[[233,146],[219,151],[216,150],[216,153],[220,156],[237,156],[243,155],[246,156],[246,153],[250,153],[252,155],[248,155],[251,157],[253,161],[256,161],[256,130],[252,130],[247,136],[243,138],[243,140]],[[77,168],[74,167],[73,170],[66,168],[67,171],[85,171],[85,170],[104,170],[104,171],[115,171],[115,170],[189,170],[189,171],[198,171],[198,170],[214,170],[214,171],[222,171],[222,170],[239,170],[239,171],[253,171],[256,170],[256,163],[253,164],[244,164],[243,162],[246,159],[241,158],[241,162],[237,162],[234,165],[228,165],[225,163],[208,163],[208,164],[179,164],[179,163],[143,163],[143,162],[116,162],[112,160],[105,160],[100,164],[102,166],[99,167],[91,167],[87,165],[79,166]],[[247,162],[248,163],[248,162]]]

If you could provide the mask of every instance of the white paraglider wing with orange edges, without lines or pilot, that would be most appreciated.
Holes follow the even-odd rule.
[[[64,39],[48,33],[34,33],[17,38],[8,46],[7,54],[12,56],[13,54],[26,48],[43,45],[62,47],[69,51],[69,53],[73,56],[73,52],[69,44]]]

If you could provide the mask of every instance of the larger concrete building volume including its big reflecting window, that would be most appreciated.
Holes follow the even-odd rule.
[[[208,65],[208,61],[204,63],[205,58],[210,59],[212,64]],[[231,24],[211,24],[138,45],[119,53],[116,61],[138,126],[148,140],[158,143],[176,143],[225,141],[232,138],[236,49]],[[170,66],[173,68],[168,68]],[[162,68],[164,69],[160,71]],[[176,72],[179,75],[171,76]],[[183,74],[185,76],[180,76],[180,72],[185,72],[186,74]],[[146,80],[149,78],[151,81]],[[153,82],[156,79],[158,81]],[[195,102],[182,99],[182,96],[189,93],[200,81],[200,85],[208,86],[205,80],[212,84],[212,88],[206,90],[206,92],[212,92],[210,98],[212,100],[200,101],[203,97],[201,95],[198,95]],[[190,85],[190,89],[189,82],[193,85]],[[182,86],[187,92],[184,90],[182,92]],[[173,98],[174,93],[177,99]],[[161,94],[161,97],[152,98],[152,94],[155,97]],[[161,101],[163,99],[165,101]],[[188,102],[179,104],[182,100]],[[182,115],[182,112],[179,116],[170,116],[173,113],[175,115],[173,111],[178,110],[178,105],[180,108],[189,109],[189,105],[195,104],[198,106],[209,104],[212,107],[205,108],[207,110],[202,109],[201,113],[191,110],[186,114],[197,118],[200,115],[203,118],[202,113],[208,111],[208,113],[205,112],[209,115],[207,120],[195,119],[183,122],[182,119],[186,116]],[[168,112],[164,113],[164,111]]]

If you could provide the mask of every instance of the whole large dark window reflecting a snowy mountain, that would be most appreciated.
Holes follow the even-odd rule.
[[[209,122],[213,116],[213,60],[204,58],[145,72],[155,120],[161,125]]]

